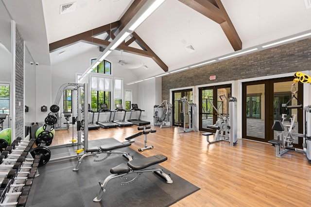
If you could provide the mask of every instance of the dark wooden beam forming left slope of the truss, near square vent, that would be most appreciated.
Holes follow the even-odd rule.
[[[98,28],[86,31],[84,33],[80,33],[78,35],[70,36],[70,37],[67,37],[65,39],[62,39],[62,40],[50,43],[49,44],[50,52],[54,52],[54,51],[60,50],[60,49],[62,49],[64,47],[68,47],[69,45],[72,45],[72,44],[74,44],[76,42],[79,42],[79,41],[81,41],[82,39],[84,39],[86,37],[91,37],[91,36],[94,36],[94,35],[103,34],[106,31],[109,31],[111,29],[115,29],[115,28],[117,28],[119,26],[120,26],[120,21],[116,21],[116,22],[113,22],[111,24],[106,24],[104,26],[101,26],[101,27],[98,27]]]

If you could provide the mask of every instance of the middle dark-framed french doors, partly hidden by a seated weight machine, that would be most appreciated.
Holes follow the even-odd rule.
[[[220,119],[220,115],[229,116],[229,102],[231,84],[208,86],[199,88],[199,130],[213,132],[207,125],[213,125]],[[215,108],[217,111],[215,110]]]

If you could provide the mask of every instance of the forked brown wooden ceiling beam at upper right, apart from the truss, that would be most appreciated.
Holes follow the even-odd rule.
[[[221,0],[179,0],[200,14],[220,24],[234,51],[242,50],[242,40],[235,30]]]

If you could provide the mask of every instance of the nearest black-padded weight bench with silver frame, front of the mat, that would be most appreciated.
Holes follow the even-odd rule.
[[[164,155],[154,155],[154,156],[131,160],[127,163],[127,165],[122,163],[116,167],[111,168],[110,173],[112,174],[106,177],[104,182],[99,181],[99,185],[101,186],[101,189],[99,190],[97,197],[94,198],[93,201],[100,202],[102,200],[103,193],[106,191],[107,183],[110,180],[117,178],[117,177],[122,177],[128,174],[131,174],[131,173],[137,173],[137,176],[134,179],[126,183],[121,183],[121,185],[131,184],[135,179],[138,178],[138,175],[140,173],[147,173],[147,172],[156,173],[160,177],[164,178],[167,183],[170,183],[170,184],[173,183],[173,180],[171,179],[171,177],[168,174],[164,173],[161,169],[159,168],[146,169],[149,166],[164,162],[165,160],[167,160],[167,157]]]

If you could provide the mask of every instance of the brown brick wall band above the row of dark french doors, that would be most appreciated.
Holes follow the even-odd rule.
[[[311,69],[311,38],[162,77],[162,100],[170,89]],[[210,81],[209,76],[217,79]]]

